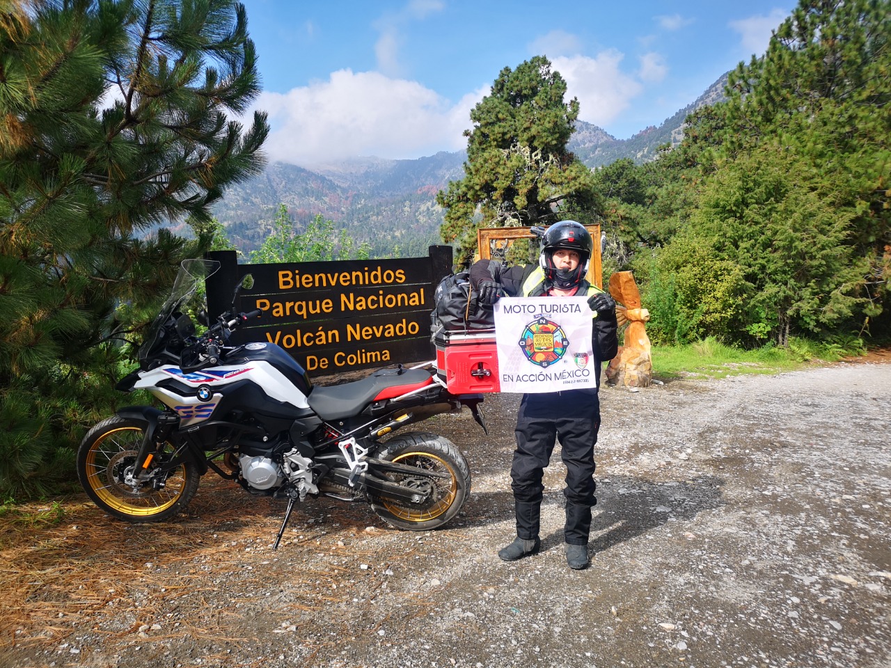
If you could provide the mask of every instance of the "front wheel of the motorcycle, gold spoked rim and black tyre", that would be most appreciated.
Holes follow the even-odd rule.
[[[124,478],[133,467],[143,443],[143,427],[117,415],[102,420],[84,436],[78,448],[78,478],[86,494],[113,517],[127,522],[163,522],[192,501],[200,475],[195,465],[184,462],[167,477],[134,488]],[[168,460],[170,444],[153,452],[148,473]]]

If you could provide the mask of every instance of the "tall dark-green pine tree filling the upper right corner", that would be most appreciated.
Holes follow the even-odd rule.
[[[770,145],[805,159],[868,260],[868,317],[891,307],[891,2],[801,0],[767,53],[730,77],[723,155]],[[886,322],[891,322],[887,318]]]

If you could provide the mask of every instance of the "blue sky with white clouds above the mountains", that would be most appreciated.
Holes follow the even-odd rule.
[[[626,139],[762,54],[797,0],[242,0],[271,161],[412,159],[466,147],[505,67],[547,56],[579,118]]]

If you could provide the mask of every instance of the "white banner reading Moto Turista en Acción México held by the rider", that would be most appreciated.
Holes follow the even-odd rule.
[[[502,392],[597,387],[587,297],[502,297],[495,343]]]

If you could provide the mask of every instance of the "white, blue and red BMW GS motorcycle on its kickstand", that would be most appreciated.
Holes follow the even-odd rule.
[[[122,392],[148,390],[162,404],[128,406],[90,429],[78,448],[78,477],[112,517],[160,522],[192,501],[208,470],[247,492],[287,499],[278,549],[297,501],[326,496],[367,501],[389,525],[426,531],[446,525],[470,494],[470,469],[448,439],[397,429],[467,406],[486,423],[482,395],[452,395],[430,368],[396,365],[336,386],[314,385],[282,347],[230,345],[259,317],[230,308],[198,335],[190,314],[219,263],[186,260],[138,351]],[[388,440],[384,440],[384,437]]]

